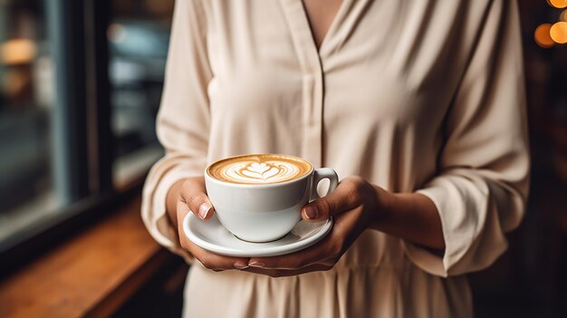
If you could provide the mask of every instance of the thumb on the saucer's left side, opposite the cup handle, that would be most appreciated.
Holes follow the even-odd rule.
[[[187,178],[181,187],[181,199],[195,216],[207,220],[213,217],[215,208],[208,199],[204,178]]]

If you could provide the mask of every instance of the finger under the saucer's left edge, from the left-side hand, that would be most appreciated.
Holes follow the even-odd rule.
[[[179,231],[179,242],[181,246],[206,268],[213,270],[245,269],[248,268],[248,257],[232,257],[217,255],[207,251],[191,242],[184,232]]]

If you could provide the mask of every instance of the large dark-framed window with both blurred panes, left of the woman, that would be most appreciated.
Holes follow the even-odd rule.
[[[163,155],[155,116],[173,2],[0,1],[0,267],[139,188]]]

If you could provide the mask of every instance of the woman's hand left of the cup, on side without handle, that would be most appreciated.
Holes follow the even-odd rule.
[[[192,212],[204,221],[213,217],[215,213],[215,208],[207,197],[205,178],[186,178],[174,184],[168,192],[167,208],[171,223],[178,227],[179,244],[205,267],[214,271],[248,267],[250,258],[217,255],[209,252],[193,244],[183,231],[183,219],[187,213]]]

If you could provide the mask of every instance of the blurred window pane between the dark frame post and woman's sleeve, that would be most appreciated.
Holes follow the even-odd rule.
[[[173,0],[112,2],[110,47],[113,184],[122,188],[163,156],[155,120],[168,54]]]

